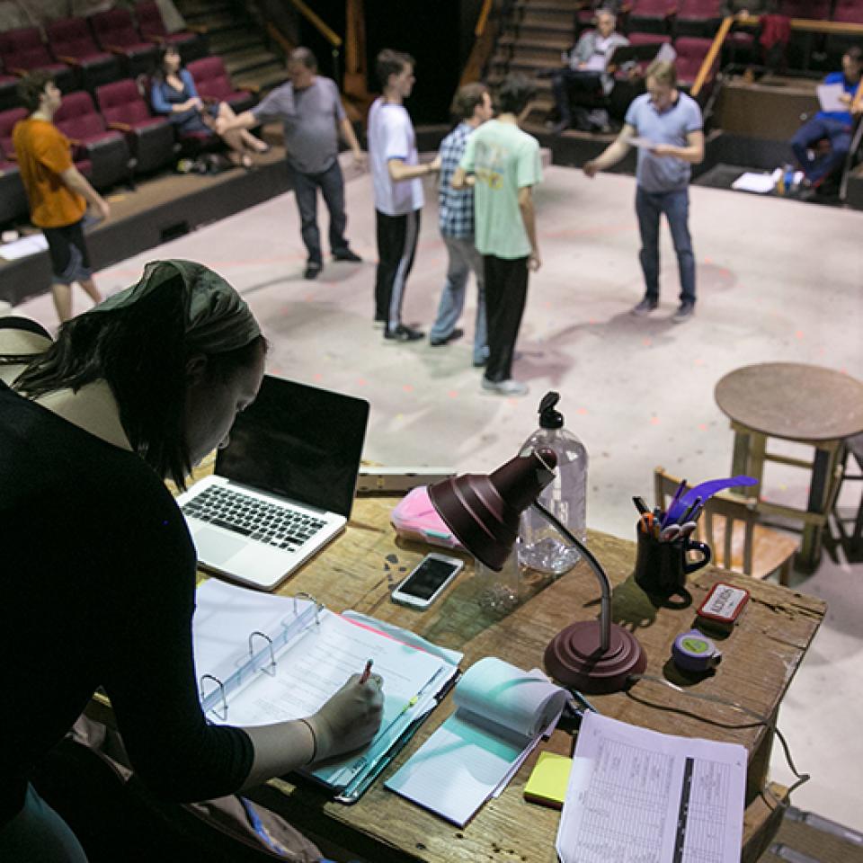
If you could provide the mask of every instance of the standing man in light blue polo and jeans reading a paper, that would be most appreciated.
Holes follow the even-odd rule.
[[[589,177],[609,168],[638,147],[636,214],[641,234],[639,260],[645,274],[645,297],[633,308],[636,317],[659,305],[659,222],[663,213],[672,232],[681,274],[677,324],[695,311],[695,255],[690,238],[691,165],[704,159],[704,131],[698,102],[677,89],[673,63],[656,60],[645,74],[647,92],[629,105],[618,138],[583,166]]]

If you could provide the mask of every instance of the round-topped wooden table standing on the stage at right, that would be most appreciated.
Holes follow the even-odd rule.
[[[794,362],[744,366],[716,384],[716,404],[734,430],[732,476],[757,480],[746,494],[758,497],[764,513],[803,522],[798,569],[813,572],[821,554],[821,534],[841,481],[842,440],[863,431],[863,384],[833,369]],[[814,447],[812,462],[767,451],[768,438]],[[764,463],[778,462],[812,471],[805,510],[770,503],[761,496]]]

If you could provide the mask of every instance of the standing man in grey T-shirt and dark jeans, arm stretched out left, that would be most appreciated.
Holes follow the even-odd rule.
[[[282,120],[288,169],[294,184],[303,243],[308,260],[305,276],[316,279],[324,265],[321,234],[317,227],[317,190],[330,214],[330,249],[335,261],[359,262],[344,237],[344,178],[339,166],[339,131],[351,147],[354,161],[365,166],[365,156],[344,113],[338,87],[317,75],[317,60],[307,48],[291,51],[289,82],[268,93],[251,111],[234,120],[217,123],[218,134],[230,129],[251,129],[261,122]]]

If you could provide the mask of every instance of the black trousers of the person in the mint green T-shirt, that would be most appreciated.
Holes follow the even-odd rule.
[[[485,378],[512,378],[512,355],[528,296],[528,259],[512,261],[486,254],[485,314],[488,323],[488,363]]]

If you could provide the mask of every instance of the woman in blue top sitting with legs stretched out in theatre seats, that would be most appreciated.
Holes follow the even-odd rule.
[[[195,82],[188,69],[182,67],[177,49],[165,46],[159,50],[159,61],[150,93],[153,110],[163,114],[184,132],[216,132],[216,120],[233,120],[236,114],[227,102],[205,105],[198,95]],[[236,165],[251,168],[249,151],[265,153],[269,147],[245,129],[225,132],[220,136],[231,149],[231,160]]]

